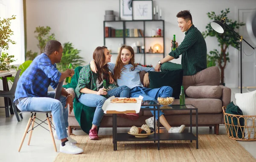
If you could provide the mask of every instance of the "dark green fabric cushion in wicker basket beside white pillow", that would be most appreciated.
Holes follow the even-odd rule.
[[[243,112],[241,111],[241,109],[236,106],[233,101],[230,102],[230,104],[227,105],[227,109],[226,109],[226,113],[227,114],[234,114],[234,115],[244,115]],[[225,117],[225,121],[227,123],[227,118],[228,118],[228,122],[229,124],[232,124],[232,118],[230,116]],[[244,126],[244,118],[239,118],[239,124],[241,126]],[[242,132],[244,131],[243,127],[238,127],[238,118],[233,117],[233,125],[234,126],[228,126],[228,130],[230,135],[233,133],[233,136],[236,138],[236,131],[237,131],[237,136],[238,138],[242,138],[243,134]]]

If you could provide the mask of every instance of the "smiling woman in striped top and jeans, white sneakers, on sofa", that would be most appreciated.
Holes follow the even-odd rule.
[[[155,100],[157,97],[170,97],[172,96],[172,88],[163,86],[161,88],[145,88],[140,82],[140,71],[154,71],[154,68],[147,68],[134,63],[134,50],[131,46],[123,45],[119,51],[116,59],[116,64],[108,63],[109,70],[114,74],[114,79],[119,86],[126,85],[130,88],[130,97],[143,96],[143,100]],[[97,71],[94,61],[91,61],[90,68],[92,71]],[[148,74],[145,74],[148,75]],[[145,84],[145,83],[144,83]],[[153,107],[150,107],[153,108]],[[151,111],[153,114],[154,111]],[[180,133],[184,130],[185,125],[180,127],[171,127],[163,115],[159,112],[160,123],[169,131],[169,133]],[[157,119],[157,111],[155,118]],[[149,127],[154,127],[154,118],[151,117],[145,120]]]

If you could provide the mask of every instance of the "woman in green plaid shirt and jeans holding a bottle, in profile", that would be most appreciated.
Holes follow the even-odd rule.
[[[90,65],[85,65],[80,73],[79,80],[76,87],[76,95],[79,102],[93,107],[95,109],[93,115],[92,128],[89,131],[89,138],[99,139],[97,127],[100,125],[104,112],[102,106],[108,96],[129,97],[129,88],[127,86],[115,86],[107,92],[109,85],[109,69],[107,63],[111,61],[111,54],[105,46],[97,47],[93,52],[93,59],[95,60],[98,74],[93,73]],[[106,80],[107,87],[103,87],[103,80]]]

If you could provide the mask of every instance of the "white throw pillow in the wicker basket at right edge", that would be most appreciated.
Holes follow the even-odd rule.
[[[244,115],[256,115],[256,91],[235,94],[236,105],[241,108]],[[253,124],[254,121],[254,124]],[[256,120],[252,118],[246,118],[246,126],[248,129],[244,130],[245,139],[254,139],[254,134],[256,130]],[[250,134],[250,137],[249,137]]]

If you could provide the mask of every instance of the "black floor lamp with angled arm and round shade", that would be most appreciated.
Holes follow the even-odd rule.
[[[241,93],[242,93],[242,40],[244,40],[244,38],[242,36],[240,36],[239,34],[236,33],[236,31],[234,31],[232,28],[230,28],[226,23],[225,23],[226,18],[224,17],[223,19],[221,19],[221,21],[219,20],[214,20],[211,23],[212,29],[217,31],[218,33],[224,33],[225,30],[225,26],[227,26],[227,28],[229,28],[231,31],[233,31],[240,40],[240,84],[241,84]],[[244,40],[245,43],[247,43],[251,48],[253,48],[253,46],[251,46],[246,40]],[[254,49],[254,48],[253,48]]]

